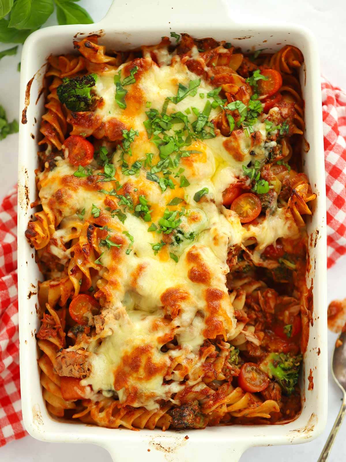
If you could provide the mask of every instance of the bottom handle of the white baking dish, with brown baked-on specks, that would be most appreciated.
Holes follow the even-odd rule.
[[[217,430],[217,429],[215,429]],[[197,435],[196,435],[197,432]],[[243,442],[230,442],[227,436],[224,439],[215,438],[201,439],[199,433],[203,430],[186,432],[174,432],[167,435],[162,432],[153,433],[152,438],[138,438],[138,441],[131,439],[121,442],[119,445],[102,444],[112,457],[113,462],[123,462],[126,454],[126,462],[193,462],[214,460],[238,462],[250,444]],[[188,436],[187,436],[188,433]],[[194,441],[194,439],[198,441]],[[99,443],[100,444],[100,443]],[[127,449],[126,449],[127,447]]]

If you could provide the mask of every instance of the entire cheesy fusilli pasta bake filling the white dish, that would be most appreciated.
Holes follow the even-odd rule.
[[[25,235],[48,411],[132,430],[294,419],[316,198],[302,53],[99,41],[45,74]]]

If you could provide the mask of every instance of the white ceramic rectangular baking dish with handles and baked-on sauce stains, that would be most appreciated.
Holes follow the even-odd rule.
[[[316,438],[327,418],[327,305],[326,305],[326,208],[324,156],[321,117],[320,67],[316,43],[310,32],[295,25],[236,24],[222,0],[114,2],[107,16],[98,24],[54,26],[31,34],[24,44],[21,61],[18,180],[18,292],[20,372],[24,425],[30,435],[43,441],[98,444],[111,453],[114,460],[200,462],[238,461],[250,446],[304,443]],[[245,17],[245,15],[244,15]],[[215,25],[214,25],[215,24]],[[316,207],[308,224],[310,240],[310,280],[314,280],[314,325],[304,360],[302,378],[303,410],[298,419],[286,425],[220,426],[205,430],[161,432],[125,429],[112,430],[64,422],[52,418],[42,399],[39,371],[36,365],[35,332],[39,328],[36,314],[37,281],[42,278],[35,263],[33,249],[24,238],[32,216],[30,202],[36,199],[37,138],[44,98],[36,98],[42,88],[45,61],[50,54],[73,51],[72,39],[100,31],[102,44],[110,49],[128,49],[141,44],[154,44],[170,31],[188,32],[196,37],[227,40],[244,50],[280,49],[286,43],[297,46],[304,54],[301,82],[305,100],[305,139],[310,145],[302,153],[304,171],[317,193]],[[28,82],[30,88],[30,103]],[[27,109],[26,109],[27,108]],[[23,112],[24,111],[24,112]],[[26,112],[26,114],[25,114]],[[26,123],[25,119],[27,119]],[[310,369],[314,388],[308,391]],[[188,435],[188,439],[185,439]],[[150,451],[149,451],[150,450]]]

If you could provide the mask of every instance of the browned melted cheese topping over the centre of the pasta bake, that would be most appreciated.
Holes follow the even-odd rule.
[[[118,123],[122,129],[138,131],[131,143],[132,155],[126,157],[129,164],[142,160],[148,152],[153,153],[153,165],[160,160],[159,150],[148,139],[143,126],[147,120],[146,102],[151,103],[152,109],[161,111],[166,98],[176,96],[179,83],[188,87],[191,80],[198,78],[177,57],[169,66],[167,54],[164,51],[157,54],[161,67],[149,58],[143,60],[145,66],[136,74],[136,83],[126,87],[126,109],[120,109],[115,101],[114,71],[99,75],[96,82],[95,93],[102,97],[103,103],[94,116],[103,126]],[[124,79],[125,66],[128,63],[119,67],[121,79]],[[207,97],[212,89],[202,79],[197,95],[189,95],[178,104],[169,103],[167,114],[185,113],[191,107],[202,111],[207,99],[213,101]],[[199,97],[199,93],[203,93],[204,98]],[[220,110],[219,107],[212,109],[209,120]],[[192,111],[189,118],[193,122],[197,116]],[[276,209],[256,224],[243,226],[236,213],[222,206],[222,192],[237,181],[243,165],[251,159],[262,161],[268,155],[264,124],[258,122],[255,129],[256,142],[243,130],[234,130],[228,138],[218,134],[215,138],[192,141],[191,146],[184,149],[196,152],[182,157],[178,167],[184,169],[189,185],[179,187],[179,177],[172,174],[174,189],[167,188],[164,192],[158,183],[147,179],[143,168],[136,175],[125,176],[117,151],[113,164],[115,178],[123,185],[119,194],[126,189],[136,204],[138,196],[145,195],[154,223],[167,208],[181,212],[185,207],[187,212],[181,215],[179,232],[172,235],[148,231],[151,222],[136,217],[129,207],[125,210],[122,207],[126,215],[124,223],[116,215],[112,217],[110,209],[120,207],[118,200],[100,189],[110,191],[116,184],[97,182],[100,179],[97,173],[101,170],[97,170],[96,164],[94,176],[79,178],[73,176],[77,167],[57,158],[53,170],[39,175],[43,210],[48,216],[54,216],[55,226],[60,225],[52,236],[57,243],[50,248],[54,255],[61,260],[71,257],[71,249],[65,249],[63,244],[72,234],[73,221],[79,227],[89,221],[107,225],[111,237],[118,239],[115,242],[122,243],[119,248],[101,248],[102,266],[92,261],[94,267],[99,268],[101,280],[97,284],[102,288],[105,302],[102,328],[83,345],[92,354],[91,375],[82,384],[91,385],[95,393],[116,394],[121,403],[147,409],[158,407],[159,399],[171,399],[186,386],[181,381],[187,377],[189,384],[189,374],[192,376],[201,366],[200,347],[205,339],[215,339],[217,335],[225,340],[234,337],[236,321],[226,286],[228,249],[236,244],[246,245],[249,239],[251,243],[256,240],[254,255],[258,257],[262,249],[277,238],[298,236],[292,217],[283,209]],[[79,133],[83,131],[80,127]],[[73,133],[78,133],[78,129],[74,128]],[[173,130],[168,133],[174,134]],[[194,195],[202,188],[208,188],[209,192],[196,202]],[[176,206],[167,206],[175,197],[182,201]],[[109,205],[110,200],[114,201],[113,207]],[[93,205],[100,209],[97,218],[91,213]],[[80,219],[77,214],[82,211],[84,215]],[[132,244],[126,232],[133,237]],[[151,244],[160,243],[162,238],[165,245],[155,255]],[[131,252],[127,255],[129,246]],[[170,254],[176,255],[179,261],[174,261]]]

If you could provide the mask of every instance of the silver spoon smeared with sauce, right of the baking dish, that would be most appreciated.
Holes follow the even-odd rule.
[[[339,340],[341,340],[342,345],[334,347],[332,358],[332,375],[335,382],[342,390],[344,397],[342,399],[338,417],[336,418],[333,428],[329,433],[327,442],[322,449],[322,453],[318,459],[318,462],[325,462],[328,459],[329,453],[332,450],[334,444],[334,439],[346,414],[346,332],[340,334]]]

